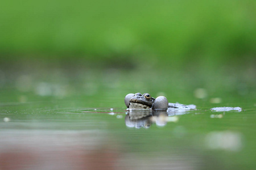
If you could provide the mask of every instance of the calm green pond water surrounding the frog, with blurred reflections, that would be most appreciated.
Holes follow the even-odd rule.
[[[237,96],[225,92],[227,86],[211,95],[196,84],[180,87],[184,79],[165,80],[177,84],[172,88],[147,78],[135,86],[127,76],[117,81],[104,75],[101,82],[88,75],[78,82],[32,75],[6,80],[0,97],[0,169],[255,169],[251,93]],[[130,92],[165,95],[196,109],[129,112],[123,99]]]

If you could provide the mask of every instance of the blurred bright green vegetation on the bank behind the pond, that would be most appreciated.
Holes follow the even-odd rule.
[[[245,65],[255,61],[255,7],[250,0],[4,1],[0,54],[114,65]]]

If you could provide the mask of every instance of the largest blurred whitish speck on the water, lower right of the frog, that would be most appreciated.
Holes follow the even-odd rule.
[[[212,131],[205,136],[209,149],[239,151],[242,147],[242,135],[232,131]]]

